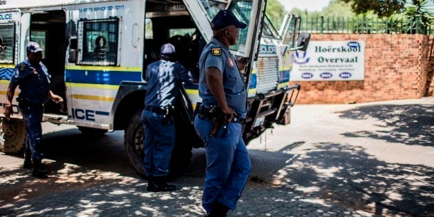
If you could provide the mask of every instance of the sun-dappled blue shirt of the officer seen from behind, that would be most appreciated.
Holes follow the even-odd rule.
[[[193,83],[192,72],[180,63],[159,60],[147,65],[145,105],[166,107],[174,105],[183,82]]]

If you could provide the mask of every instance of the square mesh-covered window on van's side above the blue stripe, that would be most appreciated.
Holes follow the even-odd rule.
[[[118,19],[79,21],[79,65],[116,65]]]

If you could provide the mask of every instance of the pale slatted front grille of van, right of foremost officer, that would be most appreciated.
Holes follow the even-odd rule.
[[[279,81],[278,57],[261,57],[257,62],[258,74],[256,92],[265,94],[276,90]]]

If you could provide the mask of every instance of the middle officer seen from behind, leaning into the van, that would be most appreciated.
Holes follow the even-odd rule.
[[[147,66],[145,109],[142,112],[145,130],[143,145],[147,191],[171,192],[175,185],[166,183],[169,162],[175,144],[175,125],[172,112],[183,82],[192,83],[192,72],[171,61],[175,47],[171,43],[161,46],[161,59]]]

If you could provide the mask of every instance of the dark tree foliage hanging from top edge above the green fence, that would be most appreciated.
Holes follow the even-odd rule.
[[[379,17],[389,17],[404,10],[406,0],[340,0],[352,3],[353,12],[364,14],[370,10]]]

